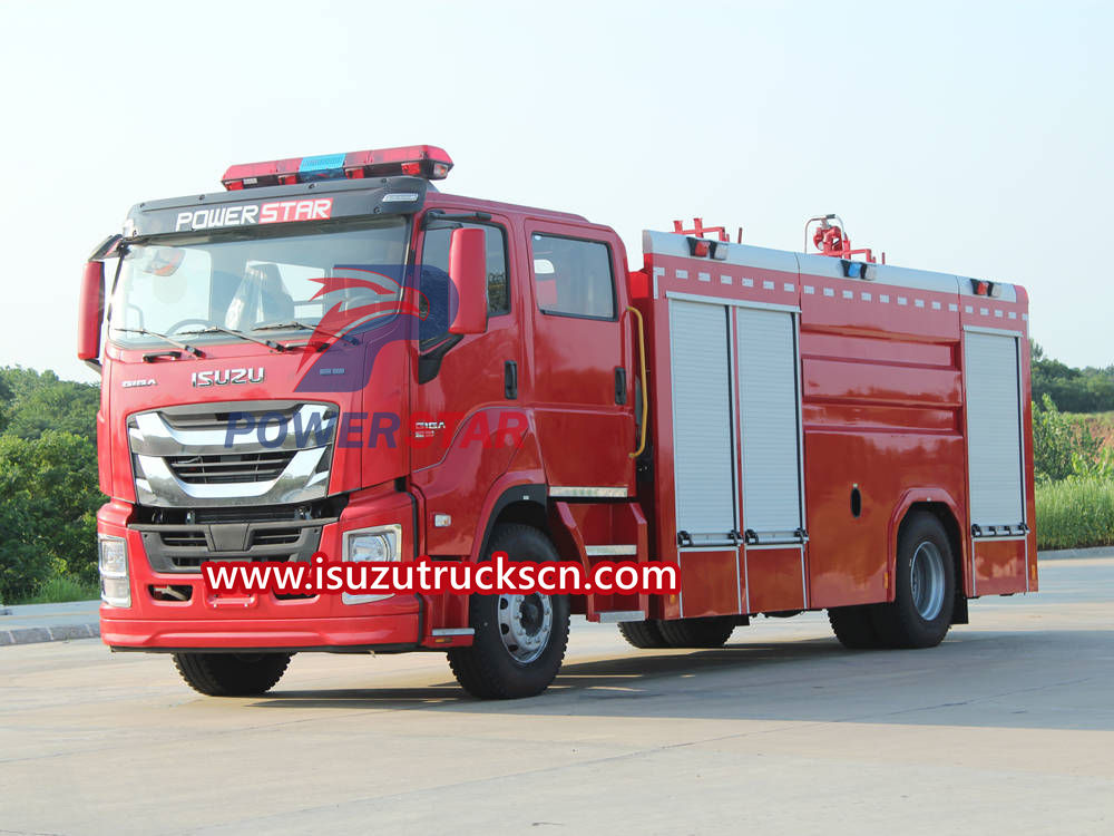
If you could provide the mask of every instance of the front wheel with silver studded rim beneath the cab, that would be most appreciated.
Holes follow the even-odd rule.
[[[549,538],[529,525],[501,524],[491,534],[489,556],[512,561],[557,561]],[[477,595],[468,603],[476,631],[470,648],[449,650],[457,682],[472,697],[506,700],[536,697],[557,677],[568,645],[568,595]]]

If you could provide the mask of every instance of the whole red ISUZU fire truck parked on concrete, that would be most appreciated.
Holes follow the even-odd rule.
[[[1022,288],[877,263],[833,216],[813,254],[645,232],[631,270],[607,226],[438,191],[451,165],[236,165],[94,252],[114,650],[214,696],[303,651],[442,651],[507,698],[553,681],[571,613],[637,648],[811,610],[849,648],[928,648],[968,600],[1037,589]],[[462,443],[508,409],[517,444]],[[216,595],[199,573],[497,551],[662,562],[680,589]]]

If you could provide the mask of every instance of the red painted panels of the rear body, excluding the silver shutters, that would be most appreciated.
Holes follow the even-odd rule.
[[[654,509],[651,517],[657,522],[655,558],[680,561],[682,574],[682,594],[655,601],[656,616],[892,601],[898,527],[913,505],[932,507],[954,521],[957,585],[967,596],[1036,591],[1034,531],[1000,542],[976,542],[968,534],[965,334],[967,329],[1014,332],[1026,347],[1024,290],[1017,288],[1016,301],[1006,301],[888,284],[885,272],[866,282],[843,278],[841,263],[799,256],[797,270],[779,271],[655,255],[647,256],[633,279],[636,304],[652,334],[651,426],[657,476],[643,487],[639,499]],[[799,564],[779,560],[778,550],[745,546],[737,562],[733,551],[721,547],[685,551],[681,560],[670,379],[672,294],[800,311],[803,493],[811,536]],[[1020,351],[1020,362],[1025,518],[1033,521],[1027,348]],[[849,511],[853,487],[862,497],[859,516]],[[745,525],[745,507],[740,516]],[[789,550],[782,551],[784,557]]]

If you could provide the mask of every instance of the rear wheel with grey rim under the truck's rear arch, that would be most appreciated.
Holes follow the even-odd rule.
[[[918,513],[901,526],[893,582],[893,601],[870,610],[882,644],[935,648],[951,624],[956,581],[951,544],[932,514]]]

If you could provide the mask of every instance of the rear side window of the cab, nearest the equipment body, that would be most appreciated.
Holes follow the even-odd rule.
[[[530,250],[543,313],[615,319],[615,276],[607,244],[534,233]]]

